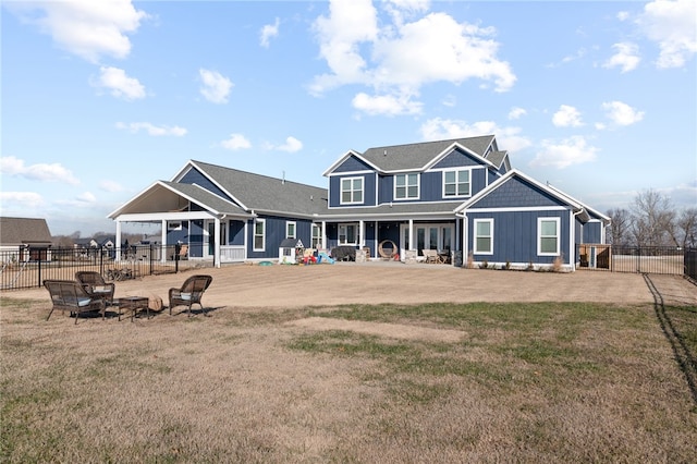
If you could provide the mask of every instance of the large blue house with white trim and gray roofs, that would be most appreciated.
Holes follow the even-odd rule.
[[[610,222],[512,169],[493,135],[348,150],[323,175],[328,188],[191,160],[109,217],[117,243],[122,223],[157,222],[162,244],[186,243],[189,259],[217,265],[279,259],[293,239],[372,258],[388,246],[407,262],[437,251],[455,266],[570,270],[576,245],[604,243]]]

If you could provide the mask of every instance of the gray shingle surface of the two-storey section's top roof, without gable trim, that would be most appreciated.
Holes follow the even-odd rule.
[[[451,145],[458,143],[484,158],[494,141],[493,135],[452,138],[449,141],[423,142],[418,144],[393,145],[369,148],[363,158],[382,171],[418,170],[424,168]]]

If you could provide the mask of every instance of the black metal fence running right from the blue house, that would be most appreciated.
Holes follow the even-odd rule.
[[[688,276],[697,273],[697,248],[676,246],[577,245],[582,268],[613,272]]]

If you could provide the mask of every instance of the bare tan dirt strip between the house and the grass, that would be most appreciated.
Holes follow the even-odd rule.
[[[237,265],[178,274],[148,276],[117,282],[115,297],[160,296],[194,272],[209,273],[212,284],[204,297],[209,307],[334,306],[342,304],[419,304],[469,302],[652,303],[640,274],[576,271],[570,273],[462,269],[398,262],[316,266]],[[655,279],[656,280],[656,279]],[[695,286],[676,277],[671,294],[695,298]],[[659,288],[660,290],[660,288]],[[44,289],[7,291],[16,298],[48,298]]]

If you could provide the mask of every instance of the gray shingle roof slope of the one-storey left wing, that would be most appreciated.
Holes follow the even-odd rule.
[[[192,162],[249,210],[306,216],[327,211],[327,188],[201,161]]]

